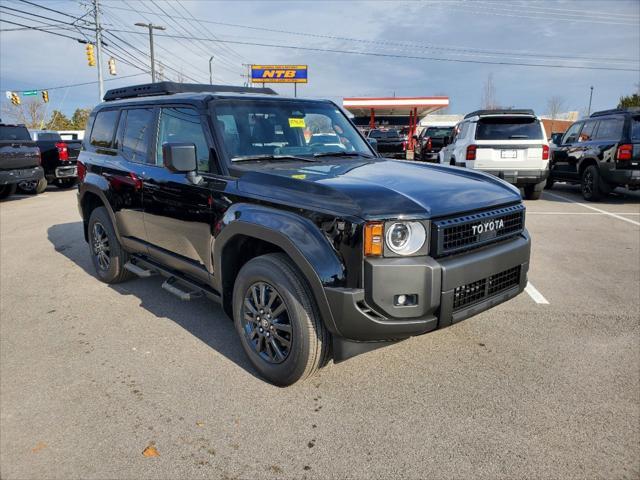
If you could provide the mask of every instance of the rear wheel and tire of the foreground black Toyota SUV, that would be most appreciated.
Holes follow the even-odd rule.
[[[91,261],[98,279],[111,284],[131,278],[133,274],[124,268],[129,255],[118,242],[105,207],[98,207],[91,212],[87,228]]]

